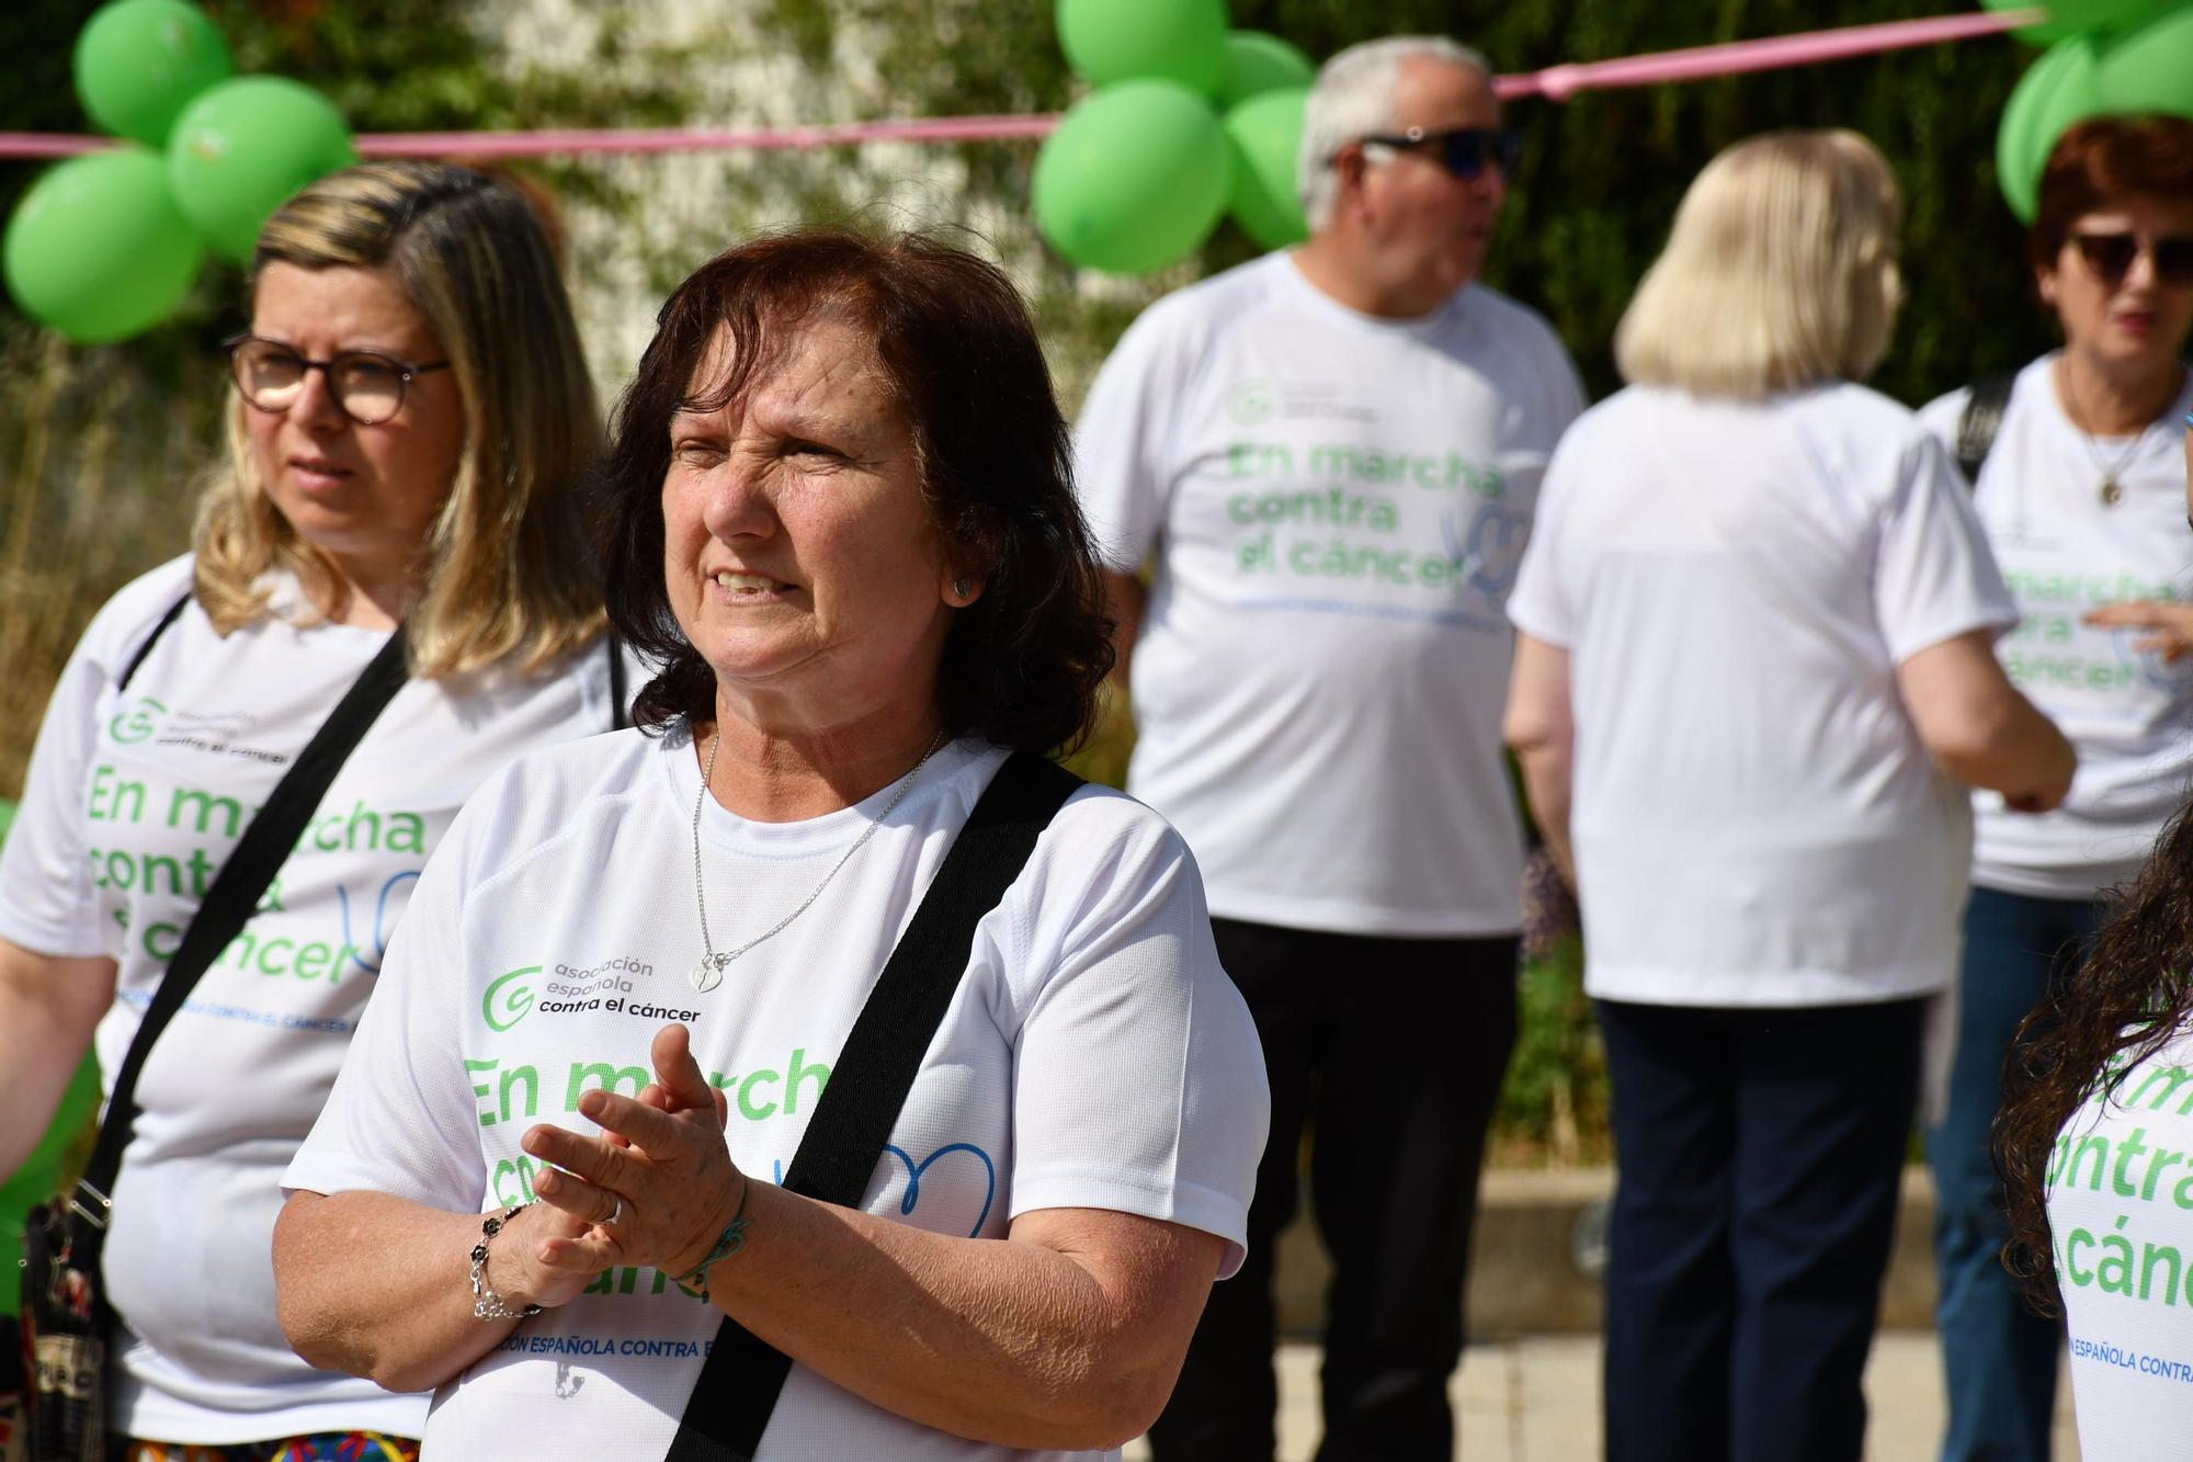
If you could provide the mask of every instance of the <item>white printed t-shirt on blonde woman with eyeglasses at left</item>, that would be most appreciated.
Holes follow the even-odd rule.
[[[0,852],[0,937],[105,955],[107,1080],[243,825],[386,643],[384,630],[263,619],[228,639],[193,601],[127,691],[116,681],[191,584],[180,558],[92,619],[46,707]],[[292,584],[294,593],[294,584]],[[375,1427],[417,1436],[423,1396],[311,1370],[274,1322],[281,1172],[305,1139],[428,852],[489,771],[605,731],[607,656],[533,683],[412,681],[329,786],[259,913],[200,979],[138,1080],[114,1190],[114,1425],[246,1442]]]

